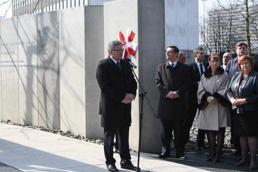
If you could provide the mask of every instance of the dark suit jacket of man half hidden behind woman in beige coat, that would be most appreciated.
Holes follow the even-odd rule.
[[[189,90],[186,92],[186,102],[194,103],[198,105],[197,91],[198,91],[198,82],[201,80],[199,68],[196,64],[196,61],[188,64],[191,74],[191,85]],[[205,70],[207,69],[207,64],[203,63]]]

